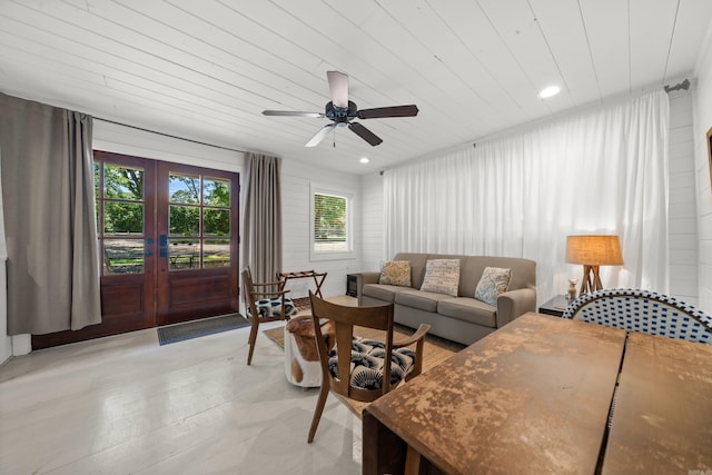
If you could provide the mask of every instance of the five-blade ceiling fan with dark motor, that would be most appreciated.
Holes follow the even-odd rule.
[[[414,117],[418,115],[418,108],[415,105],[409,106],[392,106],[377,107],[374,109],[358,110],[358,107],[348,100],[348,76],[339,71],[327,71],[326,77],[329,81],[329,91],[332,100],[326,103],[324,112],[299,112],[293,110],[264,110],[265,116],[289,116],[289,117],[325,117],[332,120],[332,123],[324,126],[322,130],[316,132],[312,139],[306,142],[305,147],[316,147],[332,130],[337,127],[348,127],[354,133],[366,140],[372,146],[377,146],[383,140],[380,137],[368,130],[355,119],[382,119],[385,117]]]

